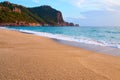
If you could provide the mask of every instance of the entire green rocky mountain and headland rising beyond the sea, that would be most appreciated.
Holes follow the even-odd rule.
[[[65,22],[62,13],[50,6],[26,8],[7,1],[0,3],[0,25],[74,26],[73,23]]]

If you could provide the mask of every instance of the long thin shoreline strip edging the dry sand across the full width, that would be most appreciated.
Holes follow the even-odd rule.
[[[8,29],[6,27],[0,27],[0,29],[12,30],[12,29]],[[31,33],[31,32],[18,31],[18,30],[14,30],[14,29],[12,31],[36,35],[34,33]],[[40,35],[36,35],[36,36],[40,36]],[[50,38],[47,36],[40,36],[40,37],[49,38],[49,39],[52,39],[60,44],[65,44],[65,45],[72,46],[72,47],[77,47],[77,48],[82,48],[82,49],[86,49],[86,50],[90,50],[90,51],[95,51],[97,53],[103,53],[103,54],[108,54],[108,55],[112,55],[112,56],[120,56],[120,49],[119,48],[100,46],[100,45],[94,45],[94,44],[86,44],[86,43],[75,42],[75,41],[67,41],[67,40],[62,40],[62,39]]]

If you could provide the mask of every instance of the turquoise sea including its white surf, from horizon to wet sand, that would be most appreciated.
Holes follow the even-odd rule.
[[[120,27],[7,27],[38,36],[120,48]]]

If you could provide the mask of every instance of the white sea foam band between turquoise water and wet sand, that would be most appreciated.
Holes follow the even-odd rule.
[[[11,29],[11,30],[16,30],[16,29]],[[120,48],[120,44],[115,44],[115,43],[107,43],[105,41],[97,41],[85,37],[71,37],[71,36],[66,36],[66,35],[61,35],[61,34],[52,34],[52,33],[46,33],[46,32],[37,32],[37,31],[31,31],[31,30],[17,30],[20,32],[24,33],[30,33],[30,34],[35,34],[37,36],[43,36],[43,37],[48,37],[48,38],[53,38],[53,39],[59,39],[59,40],[65,40],[65,41],[73,41],[73,42],[80,42],[80,43],[85,43],[85,44],[93,44],[93,45],[98,45],[98,46],[108,46],[108,47],[114,47],[114,48]]]

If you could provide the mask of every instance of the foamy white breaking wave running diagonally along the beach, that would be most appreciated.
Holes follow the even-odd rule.
[[[51,33],[51,32],[42,32],[42,31],[34,31],[34,30],[30,30],[29,28],[28,29],[14,29],[14,28],[9,28],[9,27],[6,27],[10,30],[16,30],[16,31],[19,31],[19,32],[23,32],[23,33],[27,33],[27,34],[34,34],[34,35],[37,35],[37,36],[43,36],[43,37],[48,37],[48,38],[53,38],[53,39],[58,39],[58,40],[63,40],[63,41],[68,41],[68,42],[73,42],[73,43],[78,43],[78,44],[88,44],[90,46],[102,46],[102,47],[105,47],[105,48],[111,48],[111,49],[120,49],[119,47],[119,43],[117,42],[116,44],[115,43],[112,43],[112,42],[104,42],[104,41],[99,41],[99,40],[96,40],[96,39],[89,39],[89,38],[84,38],[84,37],[81,37],[81,38],[75,38],[73,36],[68,36],[68,35],[64,35],[64,34],[57,34],[57,33]],[[91,47],[90,47],[91,48]],[[92,50],[92,49],[91,49]],[[118,51],[117,51],[118,52]]]

